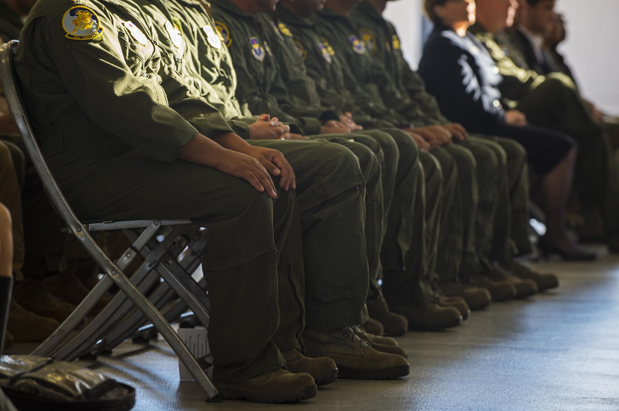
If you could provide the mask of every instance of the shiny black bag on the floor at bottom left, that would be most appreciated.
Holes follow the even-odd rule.
[[[0,387],[20,411],[128,411],[136,390],[69,362],[2,355]]]

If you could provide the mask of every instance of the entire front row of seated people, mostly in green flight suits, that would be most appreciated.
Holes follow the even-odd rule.
[[[601,146],[588,156],[576,147],[591,110],[534,122],[452,75],[459,59],[431,56],[435,38],[444,51],[464,39],[500,75],[466,30],[452,38],[474,19],[469,1],[426,2],[437,24],[420,73],[382,15],[386,0],[3,1],[13,22],[27,15],[22,98],[79,217],[210,228],[202,268],[225,397],[292,401],[337,375],[405,376],[406,354],[383,333],[443,330],[491,301],[558,286],[515,259],[532,251],[529,164],[547,252],[596,257],[565,224],[574,168],[614,238],[619,175]],[[535,80],[532,92],[584,104],[567,80]],[[530,99],[537,113],[540,96]],[[25,186],[36,185],[25,169]]]

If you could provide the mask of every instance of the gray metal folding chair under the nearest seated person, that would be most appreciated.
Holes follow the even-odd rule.
[[[144,296],[144,293],[157,284],[161,277],[164,282],[158,287],[158,289],[161,288],[160,292],[157,293],[157,290],[155,290],[155,293],[153,293],[157,294],[154,299],[158,307],[162,307],[160,303],[165,301],[165,297],[168,297],[167,301],[169,301],[173,296],[178,295],[182,301],[181,306],[191,309],[199,321],[204,326],[208,326],[210,308],[208,298],[204,289],[189,275],[191,272],[188,273],[188,270],[192,268],[195,270],[199,265],[199,254],[204,243],[206,243],[206,233],[201,233],[200,227],[189,220],[132,220],[90,223],[78,220],[51,175],[41,155],[32,127],[28,122],[15,81],[13,67],[14,52],[18,43],[14,40],[0,46],[0,80],[9,109],[20,135],[24,139],[28,154],[41,181],[43,181],[51,204],[63,218],[69,232],[77,237],[105,273],[102,280],[90,291],[84,301],[80,302],[77,309],[33,354],[53,355],[59,359],[74,359],[81,354],[90,352],[91,349],[96,349],[98,345],[109,347],[110,344],[102,344],[101,341],[105,339],[105,334],[113,332],[118,324],[121,328],[119,331],[123,332],[114,334],[116,344],[119,343],[119,338],[131,336],[132,333],[139,331],[140,326],[147,321],[170,344],[170,347],[187,367],[209,401],[221,401],[220,393],[204,372],[206,368],[212,365],[209,361],[210,357],[195,359],[178,334],[171,328],[168,320]],[[133,241],[133,244],[116,263],[98,246],[91,235],[91,233],[108,230],[123,230]],[[165,235],[165,238],[160,241],[157,236],[161,235]],[[184,253],[185,258],[178,259],[187,247],[189,247],[190,252]],[[129,280],[124,270],[136,259],[138,253],[144,257],[144,263]],[[113,284],[118,286],[120,292],[84,330],[69,340],[69,334],[77,328],[87,313],[93,309]],[[162,286],[163,284],[165,286]],[[139,310],[139,313],[131,314],[134,307]],[[131,318],[133,318],[133,322],[126,324]]]

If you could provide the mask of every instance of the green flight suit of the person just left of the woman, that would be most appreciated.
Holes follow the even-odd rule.
[[[350,20],[365,41],[367,52],[373,57],[374,79],[383,92],[386,104],[418,118],[418,121],[426,125],[450,123],[441,114],[434,96],[426,92],[422,78],[411,70],[404,59],[394,25],[387,22],[378,10],[366,1],[353,10]],[[477,222],[475,225],[464,223],[465,236],[475,236],[478,257],[487,265],[492,260],[511,257],[514,247],[519,254],[530,252],[526,233],[529,215],[526,152],[520,144],[511,139],[488,136],[472,136],[464,146],[472,149],[477,157],[478,167],[483,167],[478,168],[480,197]],[[494,156],[485,153],[487,159],[483,160],[486,149],[490,149]],[[498,167],[496,173],[492,168],[495,164],[494,157]],[[480,166],[480,162],[484,164]],[[487,173],[495,176],[490,177]],[[499,180],[493,183],[492,180],[497,176]],[[487,189],[488,187],[496,189]],[[467,272],[475,271],[475,256],[465,251],[464,261],[461,272],[465,276]],[[442,269],[448,270],[449,266],[443,266]]]

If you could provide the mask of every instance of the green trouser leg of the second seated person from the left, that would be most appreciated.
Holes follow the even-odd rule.
[[[369,268],[365,242],[366,183],[360,163],[373,170],[380,188],[376,156],[361,144],[249,140],[283,152],[295,170],[305,268],[305,318],[308,328],[342,328],[367,320]],[[366,173],[366,170],[363,170]],[[368,194],[369,195],[369,194]],[[373,195],[381,204],[382,192]],[[379,214],[378,220],[382,220]]]

